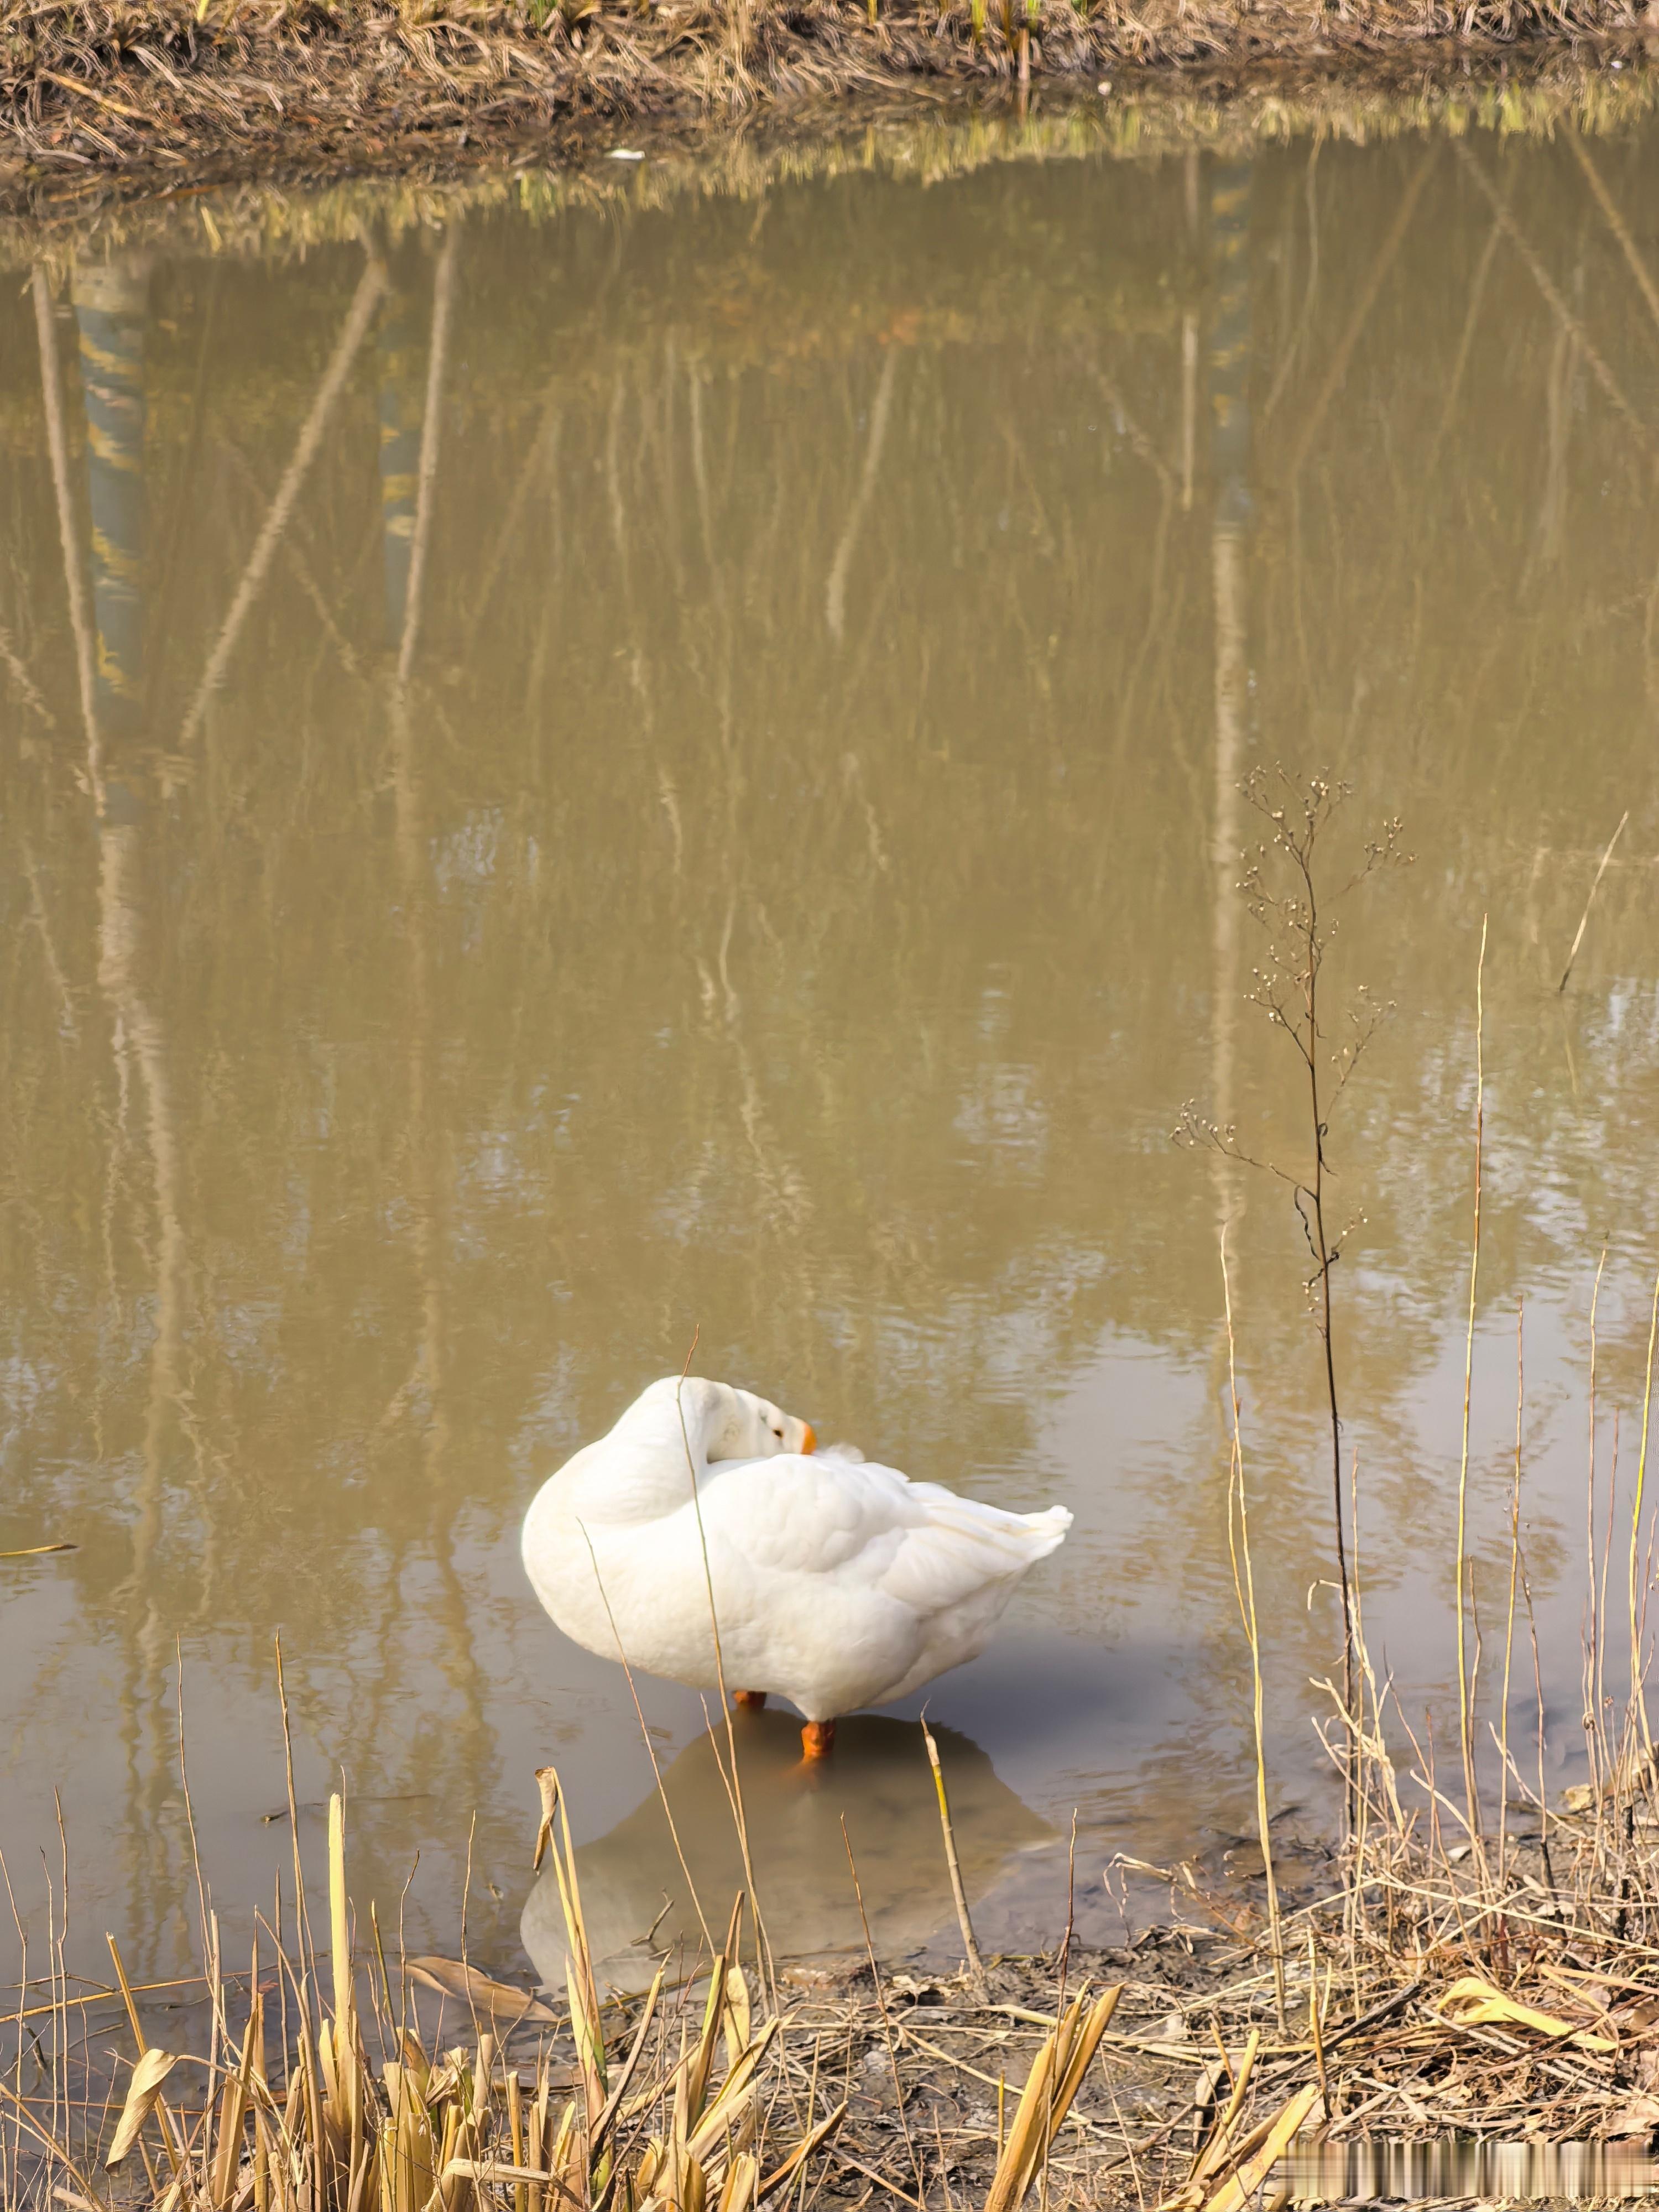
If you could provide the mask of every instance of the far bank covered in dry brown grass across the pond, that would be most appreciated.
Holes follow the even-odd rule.
[[[1526,77],[1659,49],[1659,0],[11,0],[0,195],[40,181],[465,168],[622,126],[847,95],[1146,77],[1230,104],[1263,75]],[[1303,84],[1303,88],[1305,88]]]

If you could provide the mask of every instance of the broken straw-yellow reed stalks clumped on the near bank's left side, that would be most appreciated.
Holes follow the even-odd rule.
[[[265,1949],[254,1944],[246,1975],[223,1971],[210,1913],[199,1984],[166,1984],[175,2011],[188,2011],[179,1989],[199,1995],[206,2055],[148,2039],[142,1991],[128,1984],[111,1938],[115,1984],[104,2002],[119,2000],[131,2053],[117,2075],[100,2077],[86,2037],[86,2008],[100,2000],[69,1993],[53,1942],[55,1971],[44,1984],[24,1980],[13,2013],[15,2068],[11,2084],[0,2081],[0,2201],[166,2212],[509,2203],[513,2212],[750,2212],[765,2201],[803,2203],[821,2188],[847,2119],[847,2081],[872,2011],[887,2020],[902,2112],[900,2046],[911,2068],[927,2046],[894,2028],[880,2004],[836,1995],[790,1991],[792,2002],[761,2004],[757,2017],[765,1978],[741,1960],[741,1900],[712,1960],[699,1958],[675,1984],[659,1971],[633,2004],[602,1997],[555,1783],[544,1787],[538,1865],[544,1849],[568,1940],[557,2006],[467,1960],[398,1955],[394,1966],[374,1918],[361,1944],[338,1796],[330,1801],[327,1947],[312,1942],[301,1882],[288,1938],[265,1927]],[[44,2000],[33,1995],[40,1986]],[[451,2033],[460,2026],[447,2048],[445,2008],[434,2026],[429,1997],[422,2039],[431,1991],[447,2000]],[[995,2137],[991,2212],[1015,2212],[1044,2174],[1117,1995],[1079,1986],[1037,2037],[1020,2104]],[[31,2053],[49,2084],[35,2093],[24,2086]],[[75,2095],[71,2081],[102,2095]],[[880,2132],[876,2124],[874,2148],[863,2146],[872,2157],[883,2157]],[[843,2163],[860,2170],[856,2157]]]

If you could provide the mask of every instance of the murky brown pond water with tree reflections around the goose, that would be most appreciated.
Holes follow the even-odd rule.
[[[270,1907],[279,1635],[301,1845],[343,1772],[383,1920],[420,1854],[411,1949],[471,1869],[522,1966],[549,1761],[606,1951],[684,1924],[653,1756],[737,1878],[697,1694],[639,1681],[648,1747],[518,1564],[692,1338],[1077,1517],[927,1692],[987,1947],[1055,1936],[1073,1814],[1088,1933],[1117,1851],[1225,1900],[1223,1221],[1272,1796],[1329,1820],[1307,1248],[1170,1141],[1194,1102],[1307,1166],[1256,761],[1354,785],[1327,891],[1385,816],[1416,856],[1323,991],[1329,1051],[1394,1002],[1332,1108],[1336,1367],[1371,1650],[1440,1728],[1486,918],[1480,1697],[1524,1310],[1548,1787],[1582,1761],[1590,1294],[1606,1250],[1621,1624],[1659,1259],[1659,128],[993,150],[11,239],[0,1551],[77,1548],[0,1562],[0,1843],[42,1931],[60,1792],[88,1973],[195,1942],[179,1683],[212,1900]],[[781,1951],[863,1940],[843,1814],[883,1949],[949,1927],[920,1703],[807,1778],[741,1732]],[[1511,1705],[1535,1774],[1524,1630]]]

